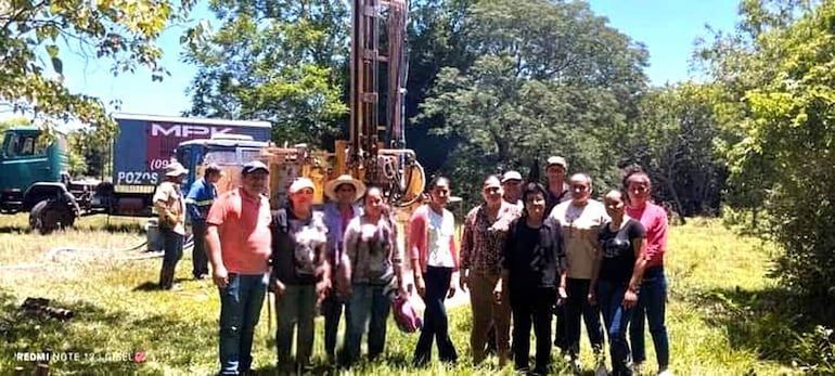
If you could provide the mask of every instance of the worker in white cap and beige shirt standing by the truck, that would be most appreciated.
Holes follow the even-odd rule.
[[[159,288],[174,288],[174,273],[182,258],[185,237],[185,200],[180,190],[182,178],[189,173],[182,165],[171,161],[165,169],[165,180],[154,192],[154,208],[159,216],[159,233],[163,236],[163,268],[159,271]]]

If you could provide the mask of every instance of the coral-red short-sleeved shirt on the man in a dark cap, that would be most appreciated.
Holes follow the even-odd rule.
[[[270,203],[265,196],[252,197],[240,189],[218,197],[206,223],[218,228],[220,255],[230,273],[261,274],[267,272],[272,234]]]

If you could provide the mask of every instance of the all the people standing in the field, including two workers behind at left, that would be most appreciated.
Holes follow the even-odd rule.
[[[329,362],[350,366],[358,361],[364,335],[368,356],[376,359],[385,351],[393,301],[408,294],[404,276],[411,272],[413,287],[426,307],[413,354],[415,366],[429,362],[433,341],[441,362],[458,361],[444,303],[460,288],[470,293],[474,364],[486,359],[492,337],[502,366],[512,360],[518,371],[548,374],[553,343],[579,371],[582,317],[598,373],[606,372],[607,337],[612,374],[631,375],[645,361],[648,319],[658,374],[668,375],[667,219],[666,211],[651,203],[650,178],[639,169],[629,170],[622,187],[605,192],[599,202],[591,198],[592,179],[575,173],[566,180],[567,167],[562,157],[549,158],[544,185],[525,182],[516,171],[485,179],[483,204],[464,219],[460,243],[454,216],[446,208],[451,182],[433,179],[426,203],[404,226],[404,249],[383,191],[350,176],[324,185],[329,202],[322,208],[312,204],[313,182],[296,179],[287,190],[286,208],[273,213],[261,194],[269,169],[260,161],[244,165],[241,186],[219,196],[211,189],[213,179],[217,181],[215,168],[207,168],[201,187],[194,187],[183,204],[171,204],[170,196],[180,194],[174,185],[181,171],[175,166],[167,174],[175,183],[160,185],[154,198],[160,222],[168,223],[160,225],[164,238],[166,233],[180,232],[177,223],[187,208],[192,222],[203,225],[194,226],[195,248],[196,238],[204,237],[220,294],[221,374],[249,371],[254,329],[268,290],[277,297],[281,369],[304,372],[310,365],[317,312],[324,316]],[[165,242],[166,247],[178,245]],[[172,264],[181,257],[181,241],[179,247],[170,257],[166,248],[163,288],[170,288],[168,274],[172,275]],[[194,259],[195,277],[208,274],[201,269],[198,256]],[[337,350],[343,315],[344,343]],[[532,368],[531,326],[536,336]]]

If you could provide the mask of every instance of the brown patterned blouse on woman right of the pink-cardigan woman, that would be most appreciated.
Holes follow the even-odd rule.
[[[461,268],[487,275],[501,273],[504,239],[511,222],[521,215],[516,205],[505,200],[502,200],[494,220],[488,217],[484,205],[471,210],[461,237]]]

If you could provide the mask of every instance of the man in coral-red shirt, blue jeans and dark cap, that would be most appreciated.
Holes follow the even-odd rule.
[[[220,293],[221,375],[248,372],[253,362],[272,238],[270,204],[261,194],[268,176],[260,161],[244,165],[241,187],[218,197],[206,218],[211,277]]]

